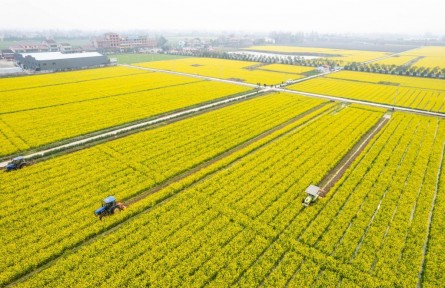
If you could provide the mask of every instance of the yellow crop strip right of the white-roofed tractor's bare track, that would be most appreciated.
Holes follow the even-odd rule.
[[[288,233],[380,279],[416,286],[444,129],[435,118],[396,115],[326,204]]]

